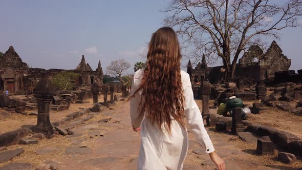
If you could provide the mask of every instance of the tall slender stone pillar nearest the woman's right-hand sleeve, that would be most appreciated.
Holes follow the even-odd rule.
[[[203,81],[201,84],[201,95],[202,95],[202,118],[205,120],[210,114],[209,112],[209,98],[210,98],[211,88],[208,81]]]

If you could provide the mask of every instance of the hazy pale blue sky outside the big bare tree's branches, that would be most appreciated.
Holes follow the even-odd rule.
[[[81,55],[96,69],[111,60],[125,58],[133,65],[145,58],[139,54],[163,22],[167,0],[136,1],[10,1],[0,5],[0,51],[14,46],[33,68],[75,69]],[[300,66],[302,28],[282,31],[277,43]],[[183,65],[188,60],[183,59]]]

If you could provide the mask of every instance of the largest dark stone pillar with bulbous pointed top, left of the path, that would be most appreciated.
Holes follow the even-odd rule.
[[[52,102],[54,90],[46,75],[43,75],[37,83],[34,96],[38,103],[38,119],[34,133],[42,133],[46,138],[50,139],[53,137],[54,131],[49,119],[49,105]]]

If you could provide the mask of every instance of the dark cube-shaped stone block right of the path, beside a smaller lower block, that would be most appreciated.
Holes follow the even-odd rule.
[[[268,137],[268,136],[267,136]],[[273,155],[274,143],[268,138],[258,138],[256,151],[261,155]]]

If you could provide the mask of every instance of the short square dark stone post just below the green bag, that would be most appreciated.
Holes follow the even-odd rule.
[[[242,109],[234,108],[232,111],[232,134],[243,132],[245,126],[242,123]]]

